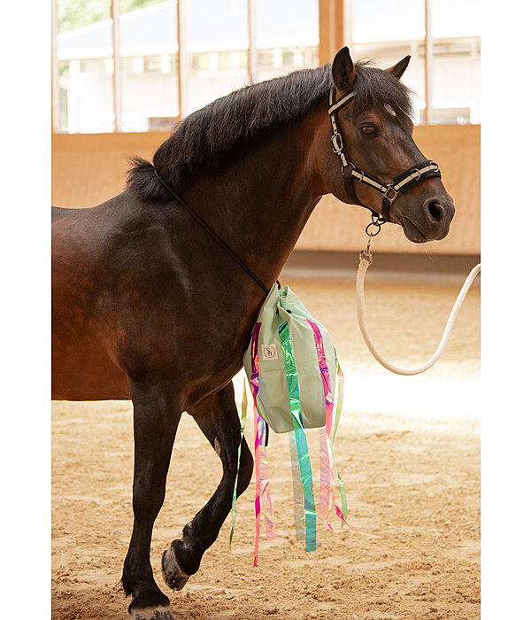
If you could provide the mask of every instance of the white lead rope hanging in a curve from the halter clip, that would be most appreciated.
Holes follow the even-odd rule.
[[[359,255],[358,275],[356,276],[356,301],[357,301],[357,306],[358,306],[359,329],[361,329],[361,333],[363,335],[364,340],[366,341],[366,345],[369,347],[369,351],[373,353],[374,358],[377,361],[379,361],[384,368],[387,368],[391,372],[396,373],[396,375],[419,375],[419,373],[424,372],[428,368],[431,368],[435,364],[435,361],[439,359],[441,353],[443,353],[444,347],[446,346],[446,343],[448,342],[448,338],[450,337],[451,329],[458,315],[459,308],[461,307],[463,303],[463,300],[466,296],[466,293],[468,292],[468,289],[470,289],[473,283],[473,279],[480,272],[481,263],[473,267],[473,270],[470,272],[470,274],[468,274],[468,277],[466,278],[466,281],[463,284],[461,291],[459,291],[458,298],[456,299],[456,302],[451,309],[450,316],[448,317],[448,322],[446,323],[446,327],[444,328],[443,337],[441,338],[441,342],[439,343],[439,346],[437,347],[435,353],[432,355],[432,357],[429,360],[427,360],[424,366],[421,366],[420,368],[412,368],[411,370],[407,370],[404,368],[397,368],[396,366],[393,366],[393,364],[389,364],[389,361],[384,360],[381,357],[381,354],[376,351],[376,347],[374,346],[373,340],[369,336],[369,332],[367,331],[367,328],[366,328],[364,282],[365,282],[366,270],[372,262],[373,262],[373,258],[370,252],[367,252],[367,251],[361,252],[361,254]]]

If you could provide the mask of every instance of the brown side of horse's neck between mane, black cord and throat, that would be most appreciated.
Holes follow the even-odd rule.
[[[247,147],[234,165],[184,193],[265,283],[279,275],[322,194],[308,157],[314,122],[301,120]]]

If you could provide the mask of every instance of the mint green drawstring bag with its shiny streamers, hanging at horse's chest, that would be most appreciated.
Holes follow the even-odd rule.
[[[334,438],[341,415],[343,376],[327,329],[286,286],[273,285],[258,314],[243,366],[253,395],[255,457],[255,554],[258,563],[260,516],[266,539],[274,539],[273,504],[266,454],[267,424],[277,433],[289,433],[296,539],[305,540],[306,551],[317,546],[317,522],[333,530],[330,511],[347,524],[347,500],[334,462]],[[339,381],[338,381],[339,379]],[[338,383],[336,390],[336,382]],[[336,396],[335,396],[336,395]],[[247,397],[243,390],[241,437],[245,427]],[[305,429],[319,428],[319,506],[313,494],[313,477]],[[241,454],[238,450],[238,470]],[[233,490],[235,531],[237,473]],[[341,507],[335,486],[341,496]],[[349,525],[349,527],[351,527]]]

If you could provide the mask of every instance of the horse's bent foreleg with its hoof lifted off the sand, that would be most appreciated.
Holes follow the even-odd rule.
[[[181,590],[189,576],[199,569],[204,552],[218,538],[219,529],[231,509],[241,437],[232,382],[196,407],[190,407],[188,412],[219,454],[223,477],[206,506],[185,526],[182,539],[173,540],[162,556],[165,582],[175,590]],[[252,469],[252,456],[243,438],[238,495],[249,485]]]

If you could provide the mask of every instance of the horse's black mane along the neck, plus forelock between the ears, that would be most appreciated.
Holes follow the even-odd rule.
[[[153,164],[132,158],[127,187],[142,198],[170,198],[153,174],[155,166],[181,193],[196,174],[218,170],[236,148],[302,119],[319,99],[327,96],[331,84],[330,65],[325,65],[262,81],[216,99],[181,120],[155,152]],[[358,110],[388,104],[412,115],[410,90],[395,76],[368,62],[356,64],[354,89]]]

